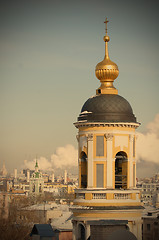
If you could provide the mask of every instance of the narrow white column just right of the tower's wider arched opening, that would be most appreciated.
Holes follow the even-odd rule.
[[[129,188],[133,188],[133,140],[134,136],[129,135],[130,149],[129,149]]]

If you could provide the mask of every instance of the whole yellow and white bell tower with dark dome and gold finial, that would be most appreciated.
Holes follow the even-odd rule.
[[[71,209],[73,239],[100,236],[106,240],[123,230],[141,240],[143,207],[136,189],[135,160],[135,130],[140,124],[113,85],[119,70],[109,58],[107,23],[106,18],[104,60],[95,69],[101,85],[74,123],[78,129],[79,188]]]

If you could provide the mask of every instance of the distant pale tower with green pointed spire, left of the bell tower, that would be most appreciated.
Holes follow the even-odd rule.
[[[30,194],[42,194],[44,192],[44,179],[42,173],[39,171],[38,162],[36,160],[35,171],[32,174],[29,182]]]

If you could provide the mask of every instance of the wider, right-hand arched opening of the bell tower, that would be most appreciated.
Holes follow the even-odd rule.
[[[115,156],[115,188],[127,188],[127,154],[123,151]]]

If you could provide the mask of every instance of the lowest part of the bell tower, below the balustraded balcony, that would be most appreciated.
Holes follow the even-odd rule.
[[[142,240],[142,206],[74,206],[71,211],[73,240],[113,240],[113,235],[119,233]]]

